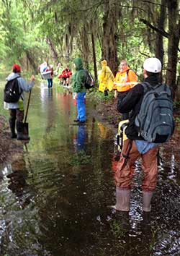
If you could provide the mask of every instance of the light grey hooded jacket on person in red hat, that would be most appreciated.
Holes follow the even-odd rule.
[[[11,81],[11,80],[14,80],[15,78],[17,78],[19,90],[22,90],[22,94],[19,97],[19,100],[22,99],[22,101],[24,102],[23,91],[28,93],[31,90],[32,86],[35,84],[35,82],[30,81],[30,83],[27,84],[24,78],[20,77],[19,73],[14,73],[14,72],[12,72],[11,74],[9,74],[8,77],[6,77],[6,81]],[[19,101],[17,101],[16,103],[9,103],[9,108],[19,108]]]

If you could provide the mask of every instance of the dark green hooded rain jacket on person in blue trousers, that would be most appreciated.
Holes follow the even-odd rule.
[[[76,58],[73,63],[76,65],[76,73],[73,74],[73,91],[74,93],[84,93],[86,88],[84,86],[86,80],[86,74],[83,68],[83,62],[81,58]]]

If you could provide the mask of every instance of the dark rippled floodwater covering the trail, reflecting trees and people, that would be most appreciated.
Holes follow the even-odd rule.
[[[86,126],[69,125],[72,95],[33,88],[30,142],[19,162],[0,169],[0,255],[180,255],[179,145],[161,150],[150,215],[142,212],[139,162],[130,213],[116,213],[107,208],[115,202],[114,134],[89,116],[92,105]],[[8,116],[3,103],[0,114]]]

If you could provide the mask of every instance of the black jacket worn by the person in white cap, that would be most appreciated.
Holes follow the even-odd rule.
[[[158,84],[158,78],[156,76],[147,77],[144,81],[149,82],[152,86],[156,86]],[[138,135],[138,130],[135,127],[135,117],[140,111],[143,94],[144,88],[140,83],[135,85],[135,87],[127,93],[118,94],[117,110],[120,111],[120,113],[132,111],[129,119],[130,123],[125,129],[125,134],[130,140],[144,140],[143,137]]]

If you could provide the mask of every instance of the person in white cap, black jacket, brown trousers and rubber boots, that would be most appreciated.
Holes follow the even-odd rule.
[[[161,61],[157,58],[145,59],[143,64],[143,76],[145,82],[151,86],[158,84],[158,74],[161,73]],[[138,83],[130,89],[127,95],[122,95],[118,102],[118,111],[121,113],[131,112],[129,124],[125,129],[127,140],[122,147],[120,161],[117,164],[117,171],[114,174],[116,184],[116,210],[130,210],[130,189],[132,186],[132,166],[141,156],[143,169],[143,211],[150,212],[150,200],[156,187],[158,179],[157,154],[158,144],[148,142],[141,137],[135,127],[135,117],[140,111],[143,99],[144,88]]]

